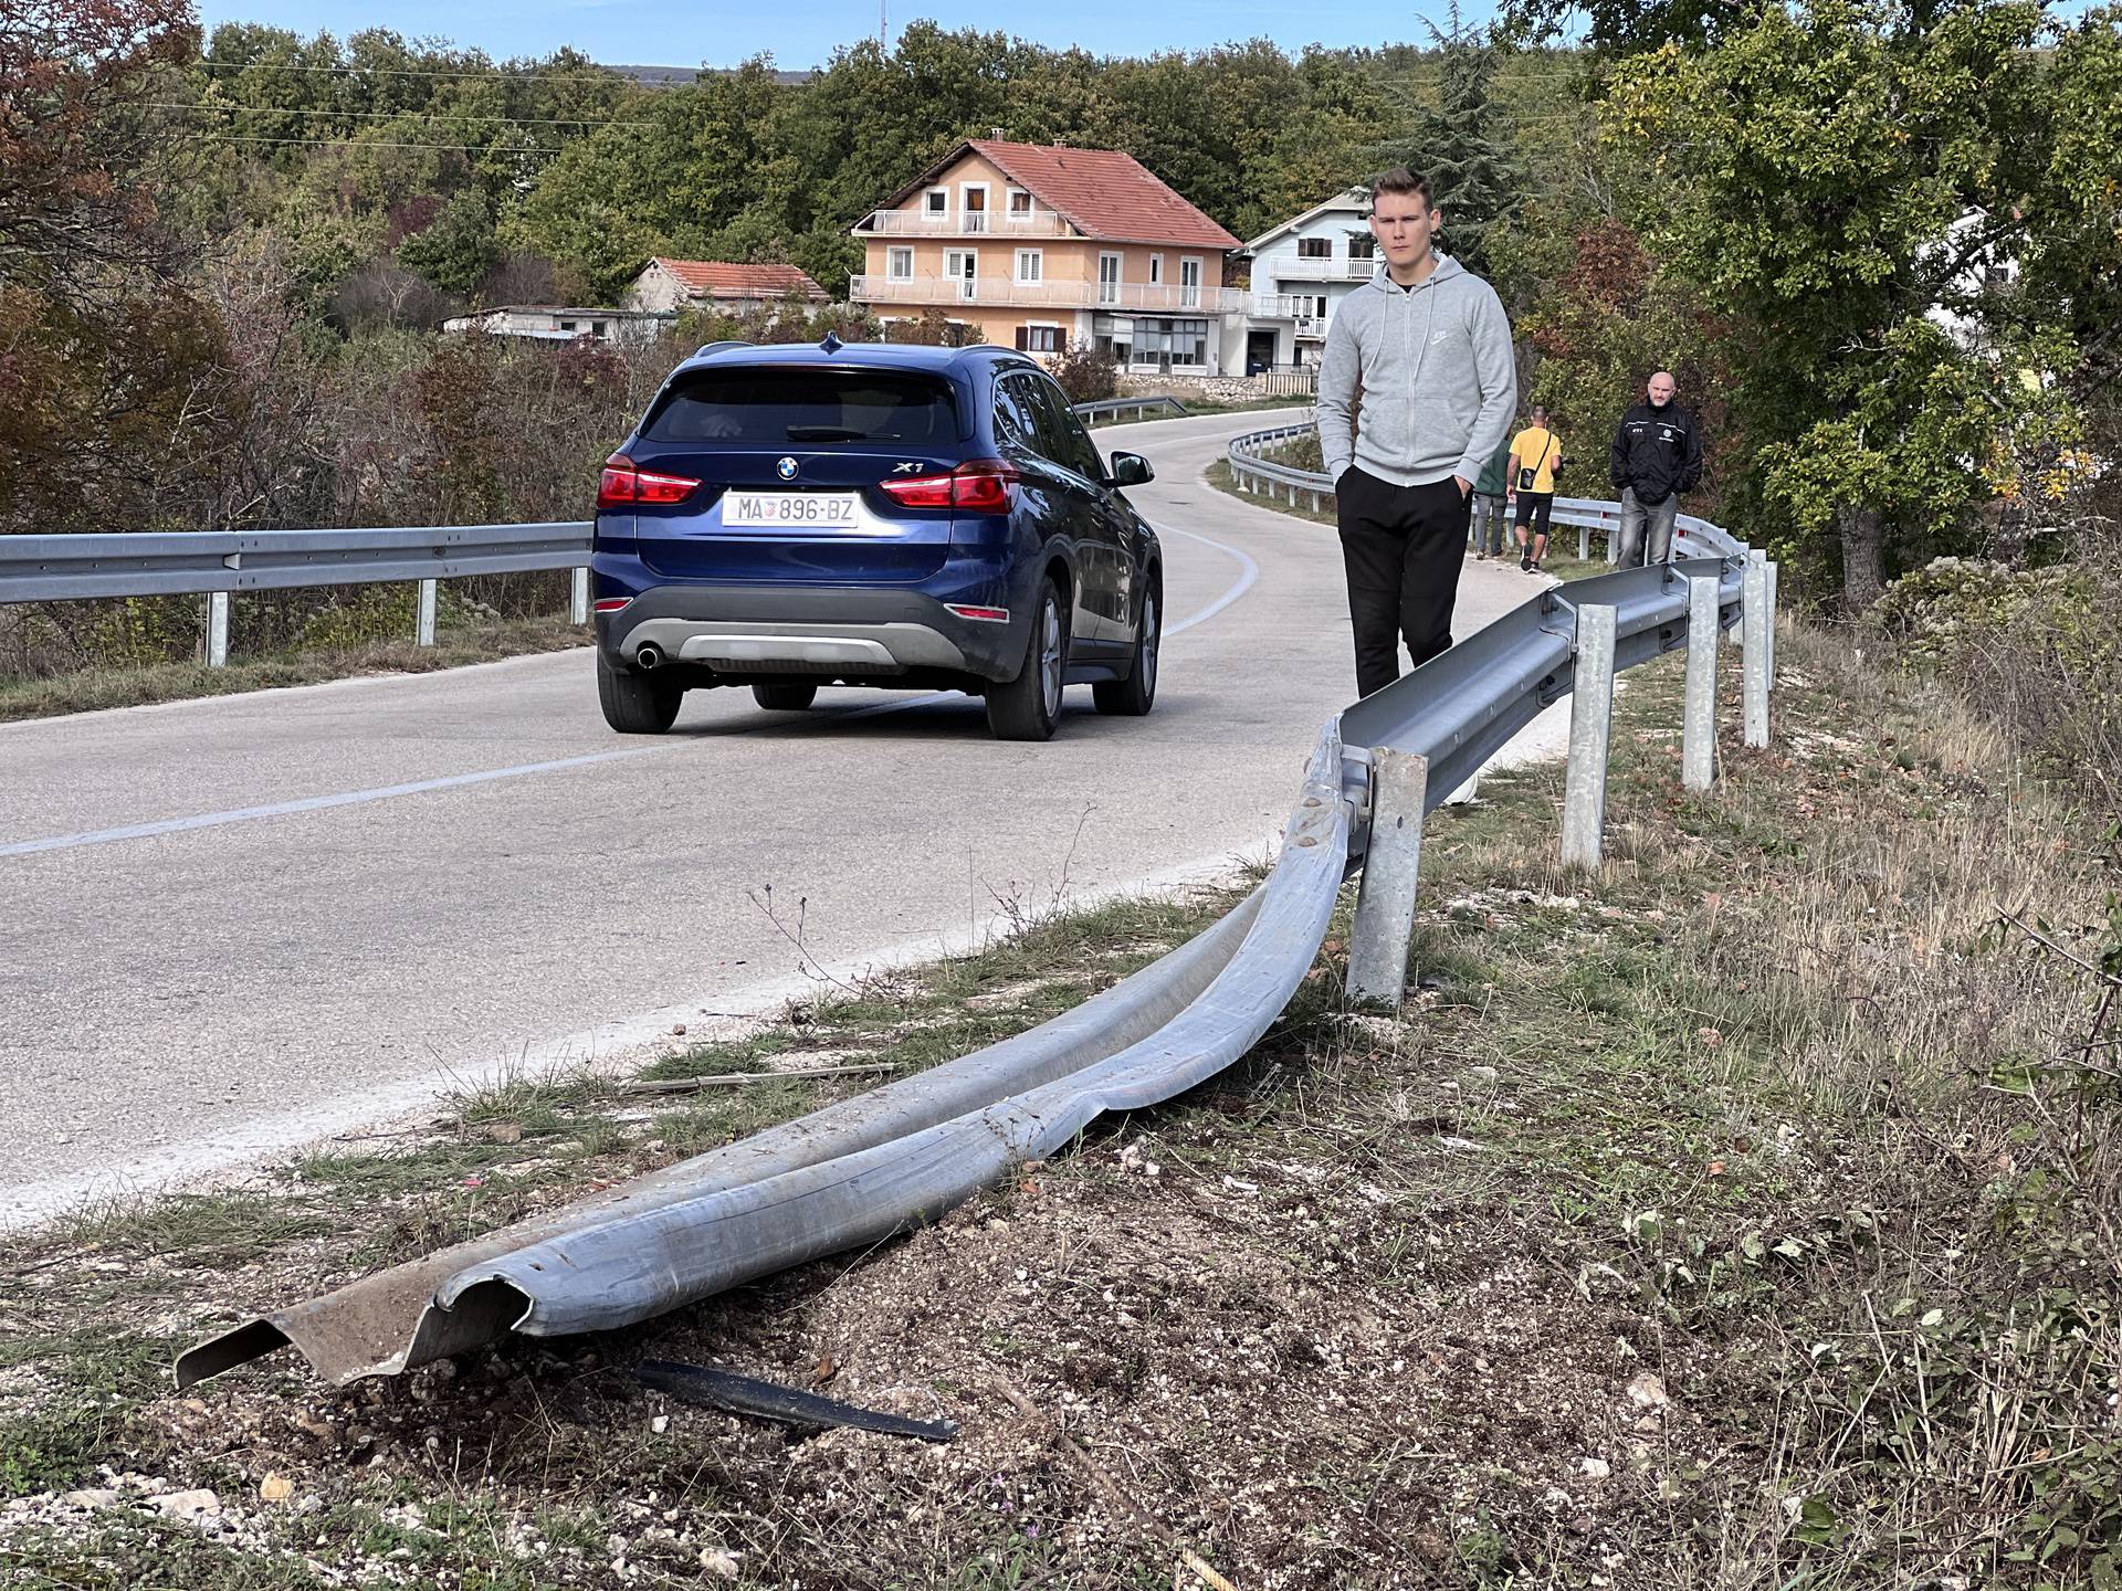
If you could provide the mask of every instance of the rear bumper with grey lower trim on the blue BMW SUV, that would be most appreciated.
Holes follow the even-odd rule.
[[[639,666],[651,645],[668,664],[741,679],[942,670],[997,681],[1023,664],[1025,624],[1016,611],[1006,624],[968,619],[923,592],[866,585],[651,585],[596,615],[596,645],[615,668]]]

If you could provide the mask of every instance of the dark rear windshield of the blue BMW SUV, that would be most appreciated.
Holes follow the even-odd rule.
[[[649,416],[651,441],[957,441],[951,384],[912,371],[753,365],[681,378]]]

